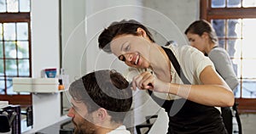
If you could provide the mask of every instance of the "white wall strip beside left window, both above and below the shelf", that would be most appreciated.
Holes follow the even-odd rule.
[[[58,0],[32,1],[32,77],[41,76],[45,68],[59,68]],[[32,95],[34,133],[61,120],[59,94]],[[25,132],[25,133],[26,133]]]

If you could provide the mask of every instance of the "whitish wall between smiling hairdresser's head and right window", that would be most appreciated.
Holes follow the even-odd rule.
[[[143,6],[153,10],[145,12],[147,14],[143,14],[143,20],[158,32],[154,32],[154,36],[164,36],[166,40],[176,41],[179,45],[187,44],[183,32],[190,23],[199,19],[199,0],[143,0]],[[165,45],[166,40],[158,41],[160,45]]]

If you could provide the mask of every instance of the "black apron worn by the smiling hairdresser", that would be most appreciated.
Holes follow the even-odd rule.
[[[191,85],[183,75],[172,51],[166,47],[163,49],[183,83]],[[168,134],[227,134],[218,109],[184,98],[166,100],[154,96],[152,91],[148,90],[148,93],[156,103],[166,110],[169,116]]]

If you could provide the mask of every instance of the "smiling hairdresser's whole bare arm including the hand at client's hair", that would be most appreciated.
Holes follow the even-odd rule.
[[[134,77],[132,87],[171,93],[209,106],[228,107],[234,104],[234,94],[230,87],[211,66],[201,71],[200,79],[204,85],[180,85],[160,81],[149,72],[144,72]]]

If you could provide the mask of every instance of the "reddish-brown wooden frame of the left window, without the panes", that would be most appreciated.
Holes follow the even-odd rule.
[[[32,45],[31,45],[31,17],[30,12],[17,12],[17,13],[0,13],[0,22],[1,23],[17,23],[17,22],[26,22],[28,24],[28,45],[29,45],[29,77],[32,77]],[[5,57],[3,56],[3,59]],[[19,69],[17,69],[19,70]],[[3,75],[6,78],[8,75]],[[19,75],[18,75],[19,76]],[[9,101],[10,104],[19,104],[21,107],[26,107],[32,105],[32,94],[14,94],[10,95],[6,92],[5,94],[0,94],[0,101]]]

